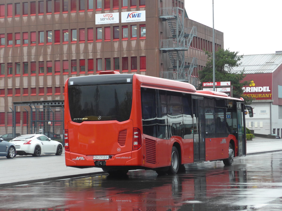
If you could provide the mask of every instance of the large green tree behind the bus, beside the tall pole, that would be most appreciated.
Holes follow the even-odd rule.
[[[241,82],[245,75],[244,70],[238,73],[231,73],[233,67],[239,66],[243,55],[238,56],[239,51],[229,51],[229,49],[219,49],[215,51],[215,81],[230,81],[233,86],[233,97],[243,97],[242,87],[250,84],[250,81]],[[205,51],[208,56],[206,66],[199,71],[200,81],[213,82],[213,55],[212,52]],[[201,83],[201,87],[202,87]],[[245,98],[246,103],[252,102],[251,98]]]

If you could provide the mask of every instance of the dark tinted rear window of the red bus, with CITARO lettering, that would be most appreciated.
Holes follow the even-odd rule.
[[[129,119],[132,84],[73,86],[68,91],[70,116],[74,122]]]

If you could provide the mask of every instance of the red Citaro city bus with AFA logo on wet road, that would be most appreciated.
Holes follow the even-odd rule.
[[[243,98],[140,74],[68,78],[65,163],[109,174],[176,174],[184,164],[246,155]],[[247,110],[247,111],[245,111]],[[245,113],[246,112],[246,113]]]

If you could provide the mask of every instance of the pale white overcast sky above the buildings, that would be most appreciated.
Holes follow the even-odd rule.
[[[282,51],[281,0],[213,0],[213,7],[224,49],[238,55]],[[213,27],[212,0],[185,0],[185,8],[190,19]]]

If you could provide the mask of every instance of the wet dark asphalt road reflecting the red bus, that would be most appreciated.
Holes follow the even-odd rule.
[[[282,210],[282,152],[185,165],[177,175],[130,171],[0,188],[0,210]]]

